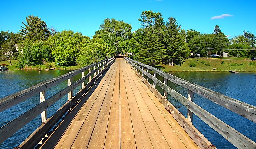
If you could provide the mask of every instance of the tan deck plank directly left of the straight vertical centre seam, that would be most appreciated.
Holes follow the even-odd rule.
[[[115,86],[109,113],[108,128],[104,148],[120,148],[120,59],[118,63]],[[108,98],[107,98],[108,99]]]

